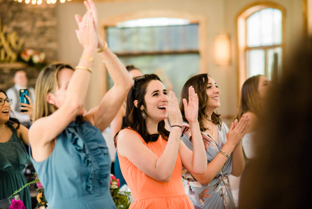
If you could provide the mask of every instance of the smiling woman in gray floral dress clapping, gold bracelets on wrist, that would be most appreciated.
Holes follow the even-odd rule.
[[[207,155],[207,171],[203,175],[183,170],[186,194],[197,208],[235,208],[228,176],[240,176],[244,169],[241,139],[248,129],[248,116],[235,120],[230,129],[214,110],[220,107],[217,83],[207,74],[190,78],[182,89],[181,98],[188,98],[188,87],[193,86],[199,99],[198,121]],[[182,115],[183,104],[180,103]],[[192,149],[192,133],[183,116],[182,141]]]

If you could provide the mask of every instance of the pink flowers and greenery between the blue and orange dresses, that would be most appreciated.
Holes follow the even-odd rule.
[[[113,197],[115,205],[117,209],[119,208],[126,208],[128,209],[131,202],[130,202],[130,192],[126,191],[119,191],[120,190],[120,182],[119,179],[113,174],[110,174],[110,194]]]

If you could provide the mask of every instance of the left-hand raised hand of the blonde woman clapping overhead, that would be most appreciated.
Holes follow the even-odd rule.
[[[83,18],[75,15],[79,30],[76,30],[76,35],[79,43],[84,47],[96,48],[98,45],[97,35],[95,32],[95,22],[92,13],[88,10]]]

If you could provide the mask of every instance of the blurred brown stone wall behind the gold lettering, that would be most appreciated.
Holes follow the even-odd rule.
[[[7,26],[6,33],[17,32],[24,38],[23,48],[33,48],[46,54],[46,62],[57,60],[56,4],[41,5],[19,3],[14,0],[0,0],[1,25]],[[0,44],[1,45],[1,44]],[[1,48],[1,47],[0,47]],[[14,73],[23,69],[27,73],[28,85],[34,87],[40,69],[27,65],[0,63],[0,89],[12,87]]]

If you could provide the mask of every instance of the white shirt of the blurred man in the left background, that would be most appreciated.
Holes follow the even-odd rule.
[[[24,87],[21,87],[20,85],[18,84],[15,84],[14,87],[17,89],[17,91],[19,91],[20,89],[27,89],[27,88],[24,88]],[[32,99],[32,103],[35,103],[35,100],[34,100],[34,96],[35,96],[35,89],[32,88],[32,87],[29,87],[28,90],[30,91],[31,93],[31,96],[30,98]],[[12,112],[15,114],[17,120],[21,123],[23,122],[29,122],[30,121],[30,118],[29,118],[29,115],[27,114],[22,114],[20,112],[20,110],[14,110],[17,103],[19,103],[19,98],[16,98],[16,94],[14,92],[14,89],[10,88],[10,89],[7,89],[7,98],[9,99],[12,99],[12,105],[11,105],[11,108],[12,108]]]

